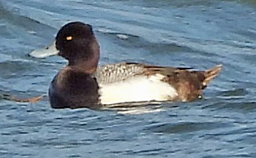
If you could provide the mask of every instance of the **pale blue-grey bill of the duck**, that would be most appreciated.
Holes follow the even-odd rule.
[[[52,44],[48,45],[47,47],[44,47],[42,49],[36,49],[31,53],[28,53],[28,56],[35,57],[35,58],[46,58],[53,55],[58,55],[59,51],[56,49],[55,43],[56,41],[54,41]]]

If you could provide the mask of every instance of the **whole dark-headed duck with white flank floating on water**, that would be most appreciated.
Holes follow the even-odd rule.
[[[208,70],[127,62],[99,66],[99,43],[92,26],[83,22],[62,26],[53,45],[44,51],[48,53],[42,55],[41,50],[29,55],[60,55],[68,61],[50,84],[48,95],[54,109],[194,101],[222,70],[222,65]]]

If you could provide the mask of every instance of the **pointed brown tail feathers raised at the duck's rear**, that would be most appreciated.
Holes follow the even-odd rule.
[[[204,71],[203,72],[204,80],[203,80],[202,84],[204,86],[206,86],[210,82],[210,80],[215,78],[220,73],[220,70],[222,70],[222,65],[217,65],[214,68],[210,68],[210,69]]]

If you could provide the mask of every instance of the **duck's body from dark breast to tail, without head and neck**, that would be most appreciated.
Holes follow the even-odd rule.
[[[93,73],[60,70],[49,91],[54,108],[98,108],[118,103],[192,101],[221,67],[189,71],[172,67],[117,63],[99,66]]]

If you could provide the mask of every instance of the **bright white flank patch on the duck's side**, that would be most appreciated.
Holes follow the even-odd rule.
[[[173,86],[162,82],[164,76],[134,76],[120,82],[100,86],[102,104],[126,103],[134,101],[167,101],[177,96]]]

